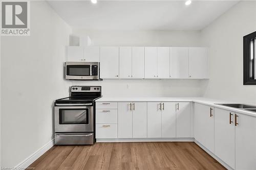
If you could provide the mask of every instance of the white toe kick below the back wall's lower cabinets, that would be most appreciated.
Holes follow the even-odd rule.
[[[124,138],[124,139],[96,139],[96,142],[193,142],[194,138]]]

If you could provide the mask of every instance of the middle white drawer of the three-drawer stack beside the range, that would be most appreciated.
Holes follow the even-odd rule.
[[[117,124],[117,109],[96,109],[96,124]]]

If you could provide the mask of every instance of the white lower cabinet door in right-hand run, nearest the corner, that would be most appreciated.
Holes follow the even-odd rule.
[[[195,103],[194,136],[205,148],[214,153],[214,108]]]

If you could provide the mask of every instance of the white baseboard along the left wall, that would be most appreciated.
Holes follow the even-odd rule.
[[[14,166],[14,169],[27,168],[31,163],[33,163],[36,159],[38,159],[40,156],[46,153],[46,151],[52,148],[53,145],[54,145],[54,139],[50,140],[42,148],[40,148],[39,150],[34,152],[32,155],[24,159],[22,162]]]

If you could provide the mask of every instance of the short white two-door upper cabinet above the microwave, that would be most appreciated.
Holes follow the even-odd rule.
[[[68,46],[67,61],[99,62],[99,46]]]

